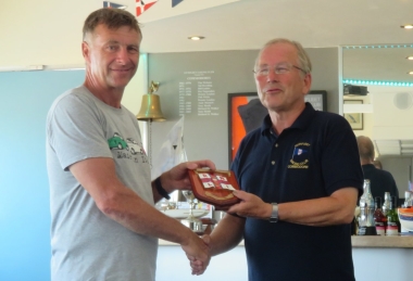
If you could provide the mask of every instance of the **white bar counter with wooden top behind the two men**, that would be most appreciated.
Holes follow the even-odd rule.
[[[411,281],[413,237],[351,237],[356,281]],[[190,274],[187,257],[178,244],[159,241],[157,280],[159,281],[248,281],[243,241],[237,247],[211,259],[205,273]]]

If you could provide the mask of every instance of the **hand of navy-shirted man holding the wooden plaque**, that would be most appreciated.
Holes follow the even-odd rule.
[[[265,203],[259,196],[242,190],[236,190],[233,194],[239,197],[241,202],[228,208],[227,213],[237,214],[240,217],[270,218],[273,208],[270,203]]]

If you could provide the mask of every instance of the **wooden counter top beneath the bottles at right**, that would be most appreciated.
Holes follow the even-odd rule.
[[[351,237],[353,247],[413,247],[413,237]]]

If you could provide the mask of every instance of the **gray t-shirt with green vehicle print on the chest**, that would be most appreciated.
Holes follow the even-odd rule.
[[[138,123],[86,87],[60,95],[47,117],[51,210],[51,280],[154,280],[158,239],[108,218],[68,167],[91,157],[113,158],[121,181],[153,205],[150,166]]]

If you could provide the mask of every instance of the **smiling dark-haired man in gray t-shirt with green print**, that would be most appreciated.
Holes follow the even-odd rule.
[[[182,245],[198,265],[209,263],[203,241],[153,206],[190,189],[179,164],[151,182],[138,123],[122,104],[139,62],[141,34],[134,15],[100,9],[84,25],[86,80],[60,95],[47,117],[51,209],[51,279],[155,280],[158,238]]]

